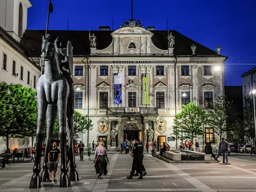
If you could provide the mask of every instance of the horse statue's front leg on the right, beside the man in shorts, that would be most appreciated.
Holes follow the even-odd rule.
[[[58,117],[59,117],[59,137],[60,137],[60,156],[61,156],[61,174],[60,174],[60,187],[70,187],[70,178],[68,175],[68,165],[67,165],[67,94],[58,91]]]

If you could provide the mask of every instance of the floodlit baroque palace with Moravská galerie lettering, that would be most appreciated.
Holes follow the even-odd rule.
[[[44,33],[27,30],[21,40],[37,63]],[[117,150],[123,139],[136,138],[175,148],[173,120],[182,104],[210,108],[224,95],[227,57],[219,47],[212,51],[177,31],[145,29],[129,20],[116,31],[49,33],[73,45],[75,108],[93,122],[89,134],[82,135],[85,144],[102,139],[109,150]],[[200,144],[218,142],[214,130],[204,129]]]

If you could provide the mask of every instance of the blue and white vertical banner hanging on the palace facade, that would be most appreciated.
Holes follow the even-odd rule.
[[[122,104],[122,75],[114,73],[114,104]]]

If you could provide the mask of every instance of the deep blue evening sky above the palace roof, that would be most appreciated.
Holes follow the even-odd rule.
[[[28,29],[46,29],[48,0],[30,0]],[[114,29],[131,18],[131,0],[52,0],[50,30]],[[219,45],[225,85],[241,85],[241,74],[256,67],[256,0],[134,0],[134,19],[156,30],[168,28],[212,49]],[[240,64],[240,65],[238,65]],[[243,65],[241,65],[243,64]],[[253,65],[254,64],[254,65]]]

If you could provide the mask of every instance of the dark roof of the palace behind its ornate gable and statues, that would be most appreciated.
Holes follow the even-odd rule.
[[[64,46],[67,41],[70,40],[73,46],[73,55],[89,55],[91,53],[89,42],[89,31],[65,31],[65,30],[49,30],[49,34],[63,42]],[[91,31],[97,37],[96,48],[97,50],[105,49],[110,46],[112,42],[113,31]],[[167,31],[151,31],[153,33],[153,44],[162,50],[168,49],[168,32]],[[191,40],[190,38],[182,35],[177,31],[170,31],[175,36],[174,53],[179,56],[191,56],[191,46],[194,44],[197,46],[195,56],[211,56],[211,57],[224,57],[217,55],[217,52],[199,44],[198,42]],[[42,35],[45,34],[45,30],[26,30],[20,44],[22,44],[31,57],[40,57]]]

